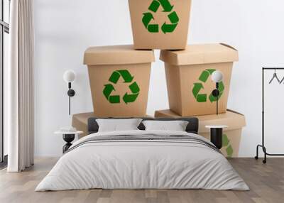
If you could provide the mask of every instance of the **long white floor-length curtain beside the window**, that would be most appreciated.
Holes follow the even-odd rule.
[[[33,165],[33,0],[11,0],[6,128],[9,172]],[[5,104],[4,104],[5,105]]]

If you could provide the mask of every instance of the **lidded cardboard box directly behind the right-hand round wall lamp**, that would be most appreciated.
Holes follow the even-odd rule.
[[[233,62],[238,52],[229,45],[188,45],[186,50],[162,50],[165,62],[170,109],[181,116],[216,114],[217,97],[212,95],[216,84],[211,75],[223,73],[219,84],[219,113],[226,111]]]

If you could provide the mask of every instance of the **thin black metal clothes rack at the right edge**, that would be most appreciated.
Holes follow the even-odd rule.
[[[272,154],[267,153],[266,146],[264,144],[264,72],[265,70],[284,70],[284,67],[263,67],[262,68],[262,143],[261,145],[256,146],[256,156],[254,157],[256,160],[258,160],[258,148],[262,148],[264,153],[264,160],[263,163],[266,163],[266,155],[271,156],[282,156],[284,154]]]

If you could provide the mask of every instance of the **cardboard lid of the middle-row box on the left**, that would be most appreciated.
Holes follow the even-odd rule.
[[[134,50],[133,45],[90,47],[84,52],[85,65],[119,65],[154,61],[153,50]]]

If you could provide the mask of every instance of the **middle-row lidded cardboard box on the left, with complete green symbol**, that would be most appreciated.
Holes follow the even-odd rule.
[[[144,116],[147,109],[153,50],[134,50],[132,45],[88,48],[88,66],[94,114]]]

